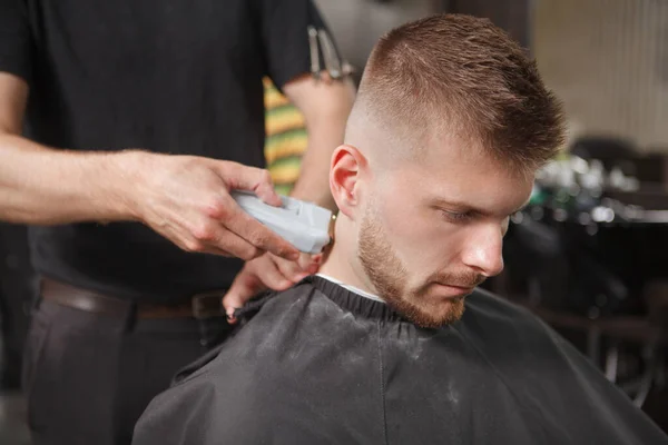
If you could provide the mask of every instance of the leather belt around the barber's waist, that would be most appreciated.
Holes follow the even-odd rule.
[[[187,301],[174,305],[135,303],[129,299],[110,297],[94,290],[43,277],[41,296],[61,306],[97,314],[125,316],[132,308],[137,318],[197,318],[206,319],[225,316],[223,296],[225,290],[197,294]]]

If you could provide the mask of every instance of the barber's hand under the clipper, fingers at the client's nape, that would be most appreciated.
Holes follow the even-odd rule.
[[[261,291],[285,290],[320,269],[322,255],[302,254],[297,261],[266,254],[247,261],[223,297],[229,323],[236,323],[234,310],[240,308]]]

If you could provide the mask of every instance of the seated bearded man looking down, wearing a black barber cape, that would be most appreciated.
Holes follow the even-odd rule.
[[[560,105],[489,21],[384,36],[332,158],[320,274],[238,310],[134,443],[668,443],[554,332],[475,289],[562,141]]]

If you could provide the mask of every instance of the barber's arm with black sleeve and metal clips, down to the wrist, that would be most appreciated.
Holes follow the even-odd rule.
[[[308,132],[308,147],[292,196],[334,210],[330,162],[334,149],[343,142],[354,99],[353,81],[340,77],[345,71],[344,60],[314,0],[249,3],[256,13],[266,73],[302,112]],[[334,72],[338,79],[332,80],[330,70],[341,71]]]

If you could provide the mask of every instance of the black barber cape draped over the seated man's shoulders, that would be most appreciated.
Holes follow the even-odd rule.
[[[151,402],[135,445],[668,443],[569,343],[485,291],[439,329],[320,277],[263,303]]]

